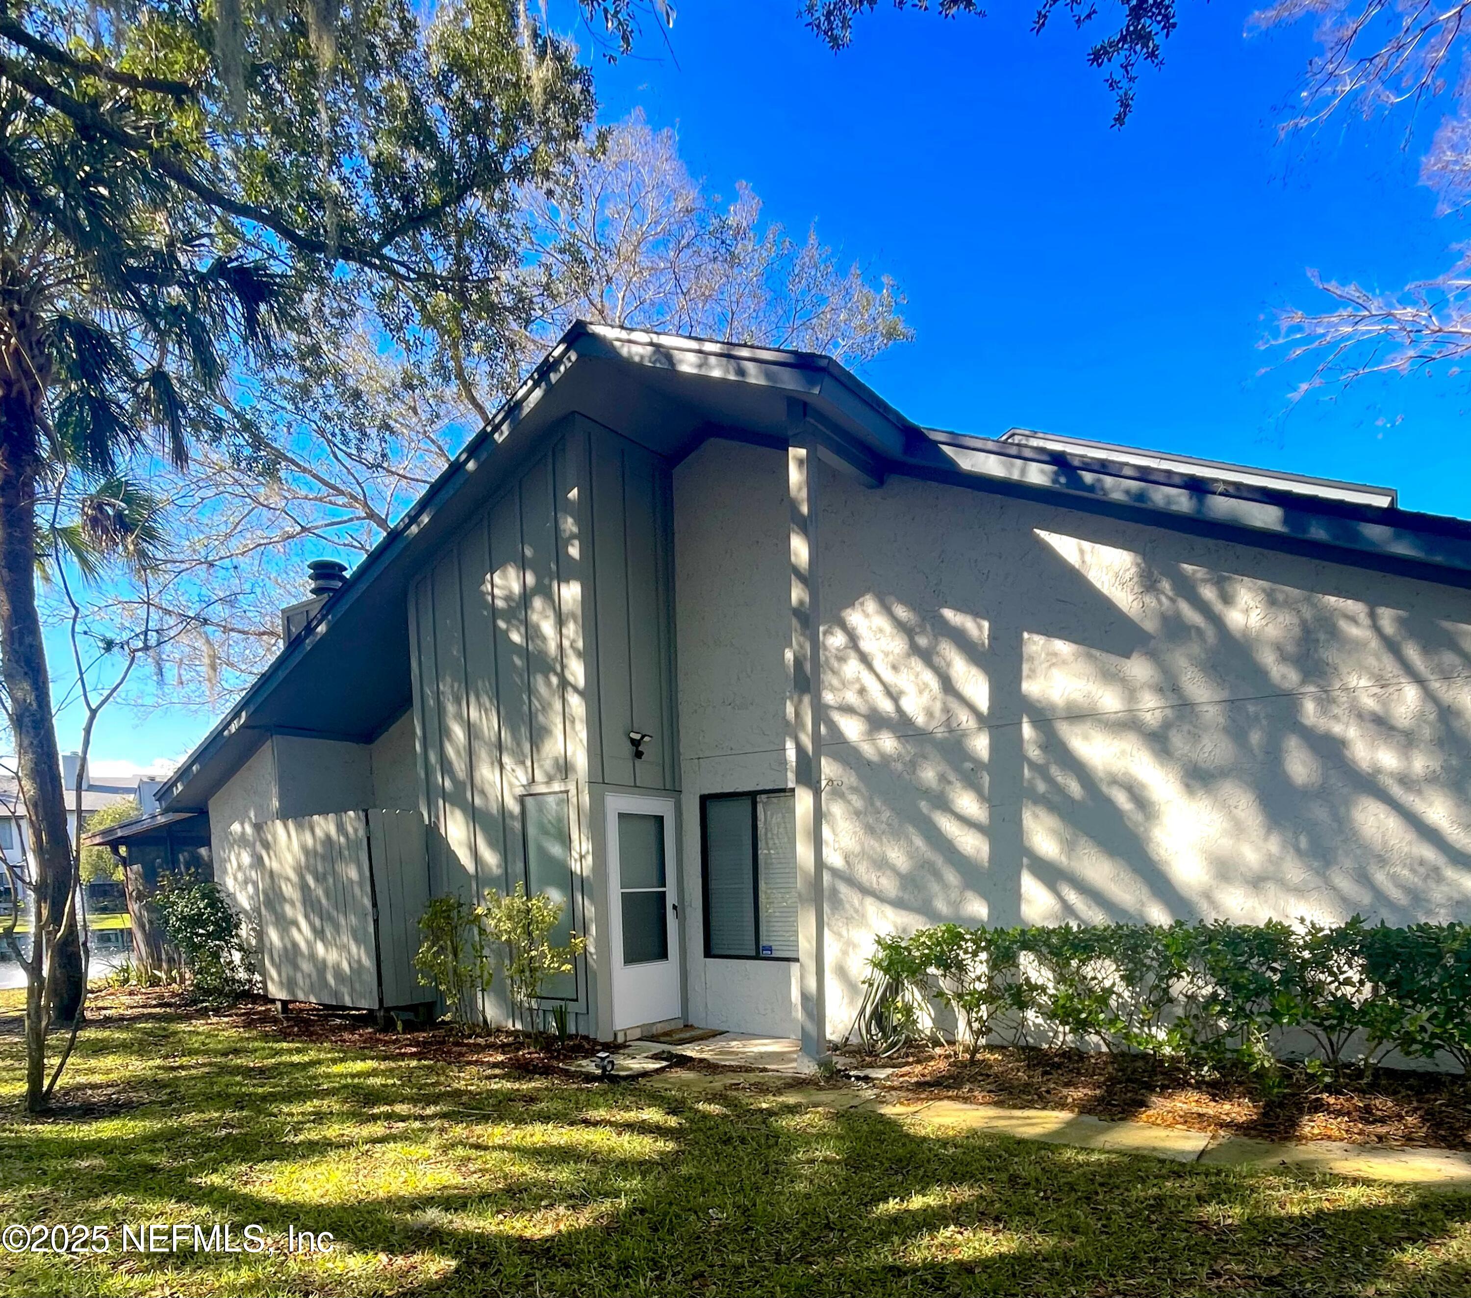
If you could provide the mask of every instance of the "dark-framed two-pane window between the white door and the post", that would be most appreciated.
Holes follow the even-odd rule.
[[[797,821],[791,793],[705,799],[705,954],[797,958]]]

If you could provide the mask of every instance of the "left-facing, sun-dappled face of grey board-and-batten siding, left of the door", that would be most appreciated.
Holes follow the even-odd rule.
[[[524,882],[521,798],[562,789],[571,827],[569,920],[580,932],[585,455],[584,436],[569,427],[435,556],[409,593],[434,890],[480,898]],[[585,1008],[581,970],[569,999]]]

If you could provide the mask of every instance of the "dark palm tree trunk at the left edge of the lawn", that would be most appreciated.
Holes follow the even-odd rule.
[[[31,1074],[44,1067],[46,1033],[46,1024],[32,1018],[38,1018],[49,1001],[53,1021],[71,1023],[81,1012],[87,990],[79,915],[57,940],[75,887],[75,861],[66,833],[66,793],[56,749],[46,645],[35,608],[38,467],[40,430],[32,396],[13,383],[0,383],[0,677],[10,702],[16,776],[31,824],[32,946],[54,957],[56,967],[50,995],[35,1005],[34,995],[26,998],[26,1102],[32,1108],[43,1104]]]

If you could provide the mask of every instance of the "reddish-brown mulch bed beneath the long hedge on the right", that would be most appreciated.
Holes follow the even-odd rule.
[[[972,1063],[949,1052],[863,1063],[899,1064],[881,1085],[908,1099],[1065,1108],[1262,1141],[1471,1149],[1471,1079],[1461,1074],[1381,1068],[1367,1082],[1322,1085],[1289,1067],[1280,1092],[1267,1093],[1247,1076],[1200,1080],[1141,1055],[1071,1049],[987,1049]]]

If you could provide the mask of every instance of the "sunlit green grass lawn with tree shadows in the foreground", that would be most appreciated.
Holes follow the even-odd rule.
[[[249,1223],[259,1255],[0,1252],[0,1292],[1471,1294],[1471,1196],[927,1135],[99,998],[62,1096],[0,992],[0,1224]],[[438,1057],[435,1057],[435,1054]],[[291,1255],[287,1229],[330,1230]]]

